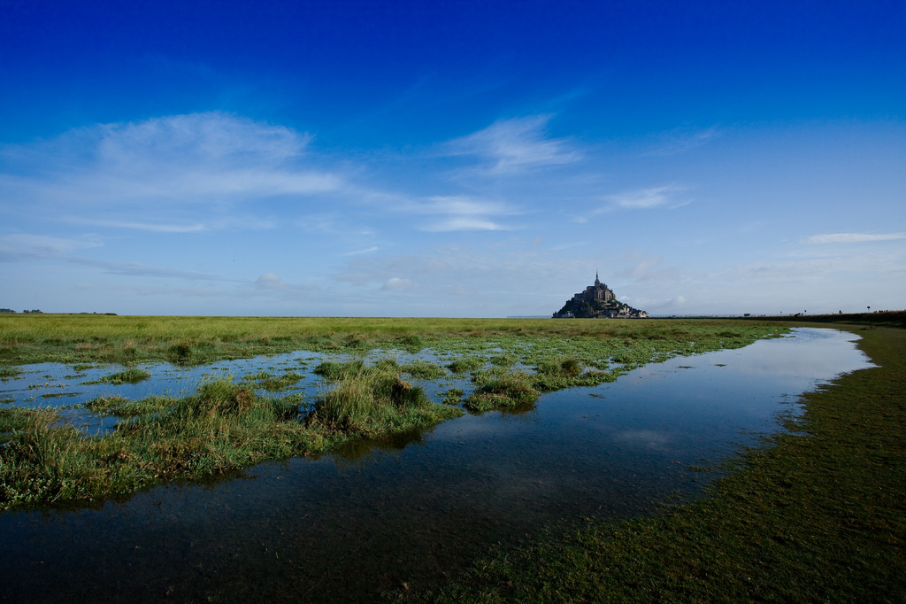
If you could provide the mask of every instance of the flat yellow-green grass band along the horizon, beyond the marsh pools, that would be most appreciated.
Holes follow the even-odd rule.
[[[381,348],[430,348],[490,356],[490,345],[535,365],[537,356],[576,356],[599,366],[744,346],[785,327],[734,319],[554,320],[344,317],[0,316],[0,363],[68,364],[169,361],[200,365],[296,350],[359,355]],[[694,346],[689,346],[694,343]],[[637,350],[638,356],[631,350]],[[510,359],[506,359],[509,362]],[[623,362],[623,361],[621,361]],[[451,370],[457,371],[451,367]],[[471,371],[468,369],[467,371]]]

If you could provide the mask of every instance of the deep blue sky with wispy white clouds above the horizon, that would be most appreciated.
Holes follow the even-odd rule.
[[[901,2],[0,0],[0,307],[906,307]]]

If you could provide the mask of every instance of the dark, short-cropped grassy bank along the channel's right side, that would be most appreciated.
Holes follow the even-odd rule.
[[[906,601],[906,330],[853,327],[877,368],[804,396],[789,434],[708,497],[499,550],[414,601]]]

